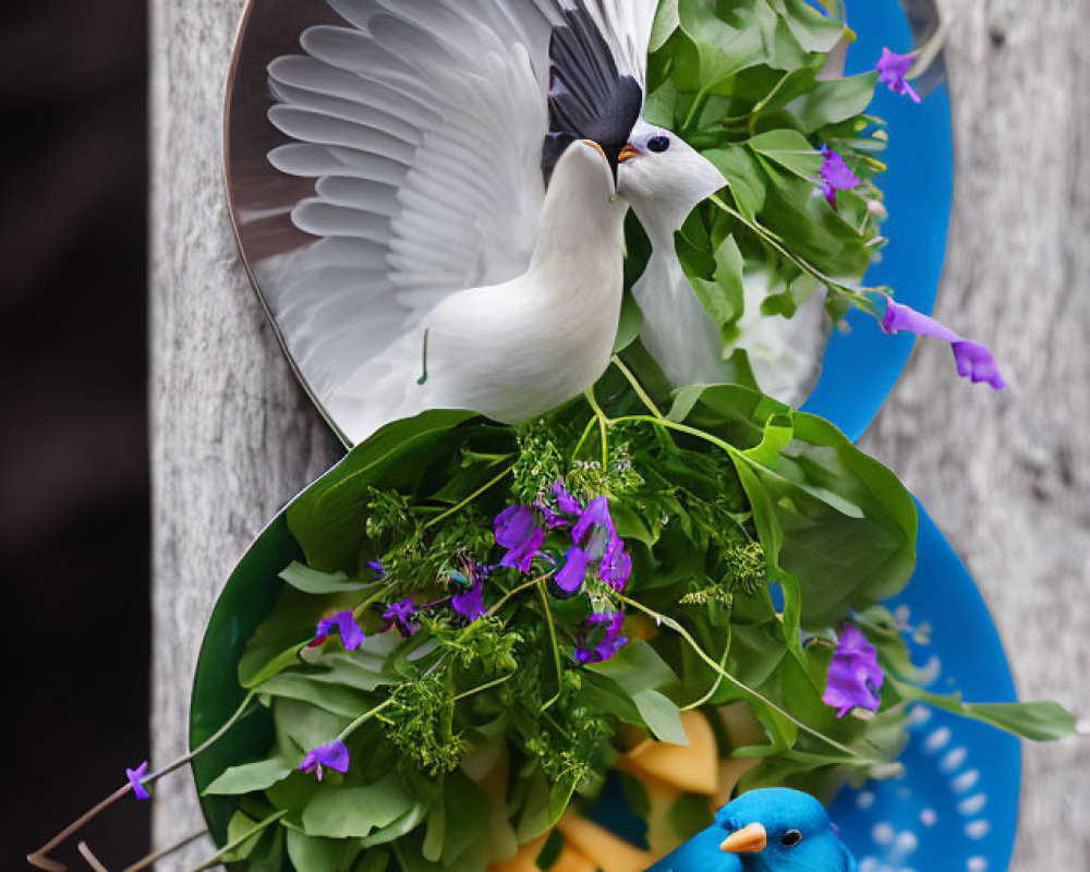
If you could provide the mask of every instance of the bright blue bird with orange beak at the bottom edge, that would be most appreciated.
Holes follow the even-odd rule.
[[[647,872],[857,872],[825,808],[797,790],[743,794]]]

